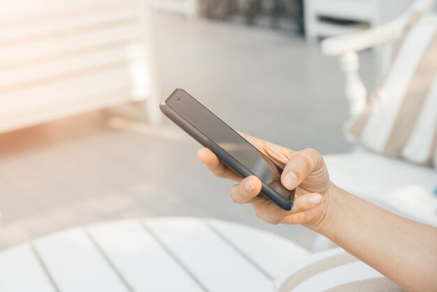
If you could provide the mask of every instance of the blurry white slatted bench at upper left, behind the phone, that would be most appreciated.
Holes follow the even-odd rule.
[[[157,122],[145,3],[0,3],[0,132],[128,101]]]

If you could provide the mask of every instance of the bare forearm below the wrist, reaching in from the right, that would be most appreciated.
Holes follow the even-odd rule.
[[[335,186],[327,197],[327,213],[316,231],[409,291],[436,289],[437,228],[399,217]]]

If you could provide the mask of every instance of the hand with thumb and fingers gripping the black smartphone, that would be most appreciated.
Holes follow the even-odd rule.
[[[314,149],[294,152],[243,133],[240,135],[284,168],[281,175],[283,187],[296,189],[291,211],[281,209],[264,196],[258,196],[261,191],[258,177],[251,175],[243,179],[225,166],[211,150],[200,149],[199,160],[213,175],[239,182],[230,189],[232,200],[235,203],[250,203],[258,218],[270,224],[303,224],[315,229],[327,214],[329,193],[334,188],[320,153]]]

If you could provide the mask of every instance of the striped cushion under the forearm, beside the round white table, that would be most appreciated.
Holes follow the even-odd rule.
[[[379,272],[343,249],[314,254],[281,279],[279,292],[404,291]]]

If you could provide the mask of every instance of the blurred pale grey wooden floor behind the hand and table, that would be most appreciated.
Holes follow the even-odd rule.
[[[337,60],[290,32],[156,14],[163,97],[182,87],[235,129],[294,149],[346,152]],[[373,82],[364,52],[363,75]],[[71,226],[150,216],[213,217],[258,226],[309,247],[301,226],[269,226],[235,205],[198,145],[160,127],[91,112],[0,135],[0,248]]]

